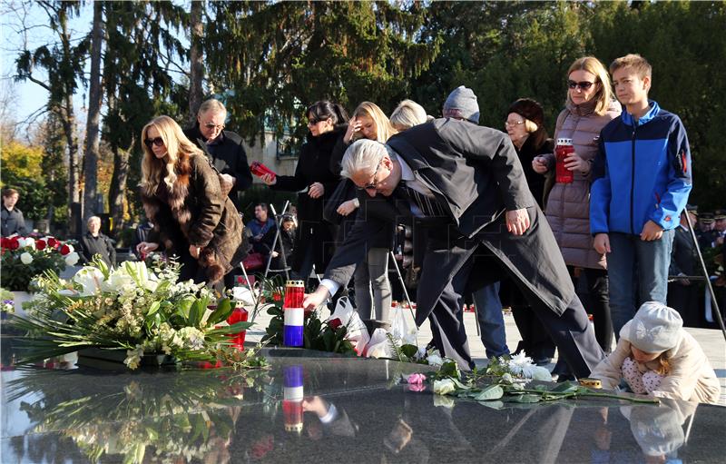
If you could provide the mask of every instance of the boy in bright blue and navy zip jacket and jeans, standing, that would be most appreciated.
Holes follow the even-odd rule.
[[[678,116],[648,100],[651,72],[640,54],[610,65],[625,111],[603,127],[593,166],[590,232],[595,250],[608,253],[617,338],[640,303],[665,304],[673,230],[692,188],[686,131]]]

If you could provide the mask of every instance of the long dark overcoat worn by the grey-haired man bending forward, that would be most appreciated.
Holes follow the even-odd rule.
[[[557,314],[565,311],[574,298],[572,280],[505,133],[437,119],[397,133],[388,145],[417,181],[446,205],[449,225],[435,231],[449,242],[455,239],[448,249],[427,249],[418,282],[417,325],[426,321],[446,285],[477,249],[495,258],[544,307]],[[358,222],[338,248],[326,278],[348,282],[355,265],[365,258],[366,237],[388,227],[402,212],[394,195],[374,200],[391,204],[392,214],[388,218],[368,214],[366,222]],[[410,212],[408,205],[407,209]],[[506,230],[504,213],[519,209],[527,210],[531,226],[524,235],[514,236]],[[503,274],[498,269],[491,272],[498,275],[487,277],[499,279]]]

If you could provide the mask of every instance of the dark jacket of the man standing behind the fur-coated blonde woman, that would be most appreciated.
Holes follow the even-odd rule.
[[[222,191],[228,190],[228,195],[234,203],[235,208],[240,210],[241,193],[250,188],[252,184],[252,174],[250,173],[250,165],[247,163],[247,154],[242,148],[242,138],[239,134],[231,131],[222,131],[214,142],[207,144],[207,140],[201,135],[199,123],[194,127],[184,130],[192,143],[201,148],[201,151],[207,153],[211,163],[222,174],[230,174],[237,179],[234,185],[228,186],[226,189],[222,186]]]

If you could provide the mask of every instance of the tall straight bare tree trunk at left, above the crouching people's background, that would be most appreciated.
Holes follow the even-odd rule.
[[[101,48],[103,47],[103,2],[93,4],[93,30],[91,32],[91,87],[88,92],[88,120],[85,132],[83,156],[83,222],[98,213],[96,195],[98,192],[98,144],[101,119]]]

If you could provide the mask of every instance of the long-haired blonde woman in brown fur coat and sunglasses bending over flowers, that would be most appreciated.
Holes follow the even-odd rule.
[[[244,255],[242,222],[219,173],[169,116],[142,129],[141,195],[153,228],[140,254],[160,247],[182,262],[180,280],[216,283]]]

